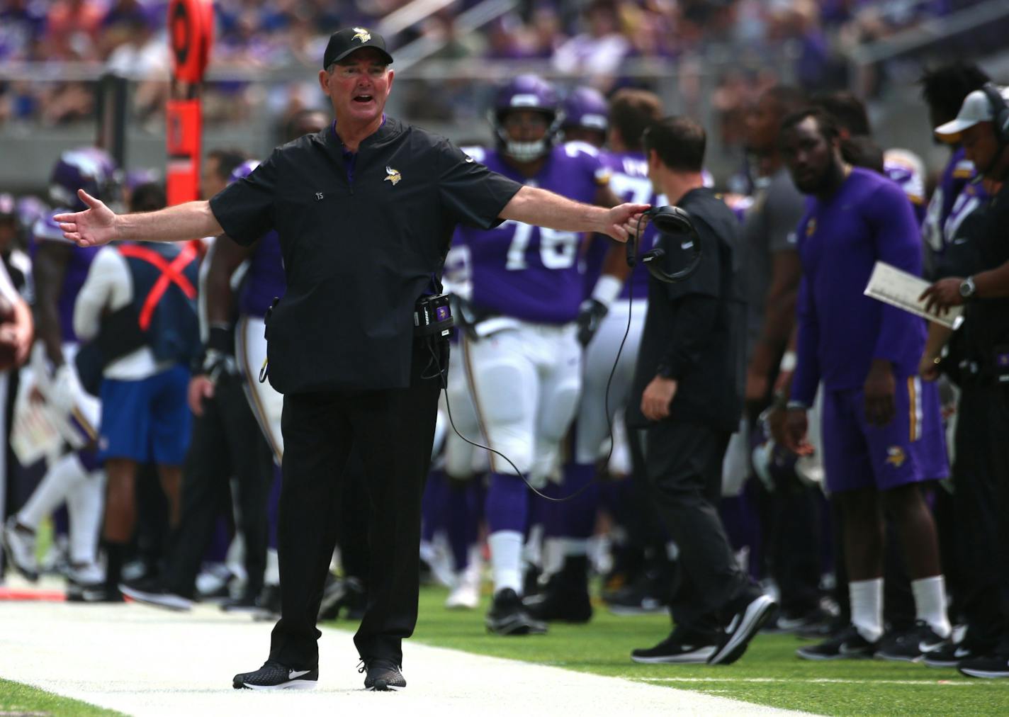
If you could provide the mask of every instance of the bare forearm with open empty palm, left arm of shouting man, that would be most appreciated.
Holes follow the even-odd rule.
[[[209,202],[187,202],[156,212],[117,215],[84,190],[78,197],[88,209],[58,214],[64,236],[78,246],[99,246],[110,241],[184,241],[217,236],[224,229],[210,211]]]

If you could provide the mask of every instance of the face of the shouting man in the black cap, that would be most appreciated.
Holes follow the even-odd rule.
[[[319,73],[319,84],[329,95],[341,121],[368,123],[381,117],[393,88],[393,71],[381,52],[363,47]]]

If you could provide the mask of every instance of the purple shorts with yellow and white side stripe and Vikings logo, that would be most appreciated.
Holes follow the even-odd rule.
[[[895,414],[886,426],[866,420],[861,388],[823,391],[821,429],[826,487],[889,490],[948,475],[945,434],[934,383],[897,377]]]

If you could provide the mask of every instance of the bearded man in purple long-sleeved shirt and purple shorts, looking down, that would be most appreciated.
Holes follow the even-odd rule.
[[[877,261],[920,275],[917,222],[899,187],[842,159],[821,111],[789,116],[781,143],[795,186],[810,196],[797,232],[803,277],[786,434],[801,451],[806,408],[822,382],[826,485],[842,508],[853,622],[797,653],[916,661],[950,634],[935,527],[918,487],[945,477],[945,444],[934,385],[922,387],[916,375],[924,322],[863,291]],[[900,535],[917,617],[914,629],[886,641],[884,511]]]

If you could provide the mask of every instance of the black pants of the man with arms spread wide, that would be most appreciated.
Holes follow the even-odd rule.
[[[362,659],[403,663],[402,640],[417,624],[421,495],[441,388],[438,379],[421,378],[427,361],[419,345],[414,354],[410,388],[284,398],[281,620],[271,660],[299,670],[319,663],[316,617],[353,444],[364,463],[370,548],[367,607],[354,644]]]

